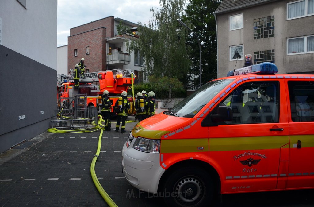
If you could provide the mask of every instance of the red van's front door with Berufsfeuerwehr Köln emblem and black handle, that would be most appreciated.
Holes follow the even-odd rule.
[[[209,160],[220,175],[221,193],[276,189],[278,177],[288,170],[284,80],[237,83],[209,113],[216,114],[221,105],[233,112],[231,121],[209,127]]]

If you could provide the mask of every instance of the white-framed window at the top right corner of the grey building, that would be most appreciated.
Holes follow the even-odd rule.
[[[287,3],[287,19],[314,15],[314,0],[299,0]]]

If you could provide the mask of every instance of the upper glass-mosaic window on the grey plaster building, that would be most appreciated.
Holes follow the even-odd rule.
[[[275,16],[254,19],[253,21],[254,39],[269,38],[274,36],[275,36]]]

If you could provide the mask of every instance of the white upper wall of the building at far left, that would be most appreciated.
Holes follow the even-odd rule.
[[[0,18],[3,46],[57,69],[57,0],[1,0]]]

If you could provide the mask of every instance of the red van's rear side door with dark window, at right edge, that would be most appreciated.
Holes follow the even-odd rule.
[[[287,81],[290,159],[287,189],[314,187],[314,80]]]

